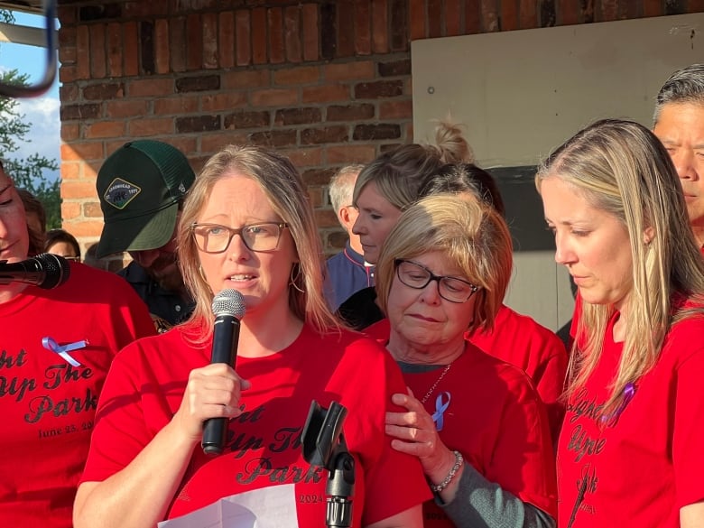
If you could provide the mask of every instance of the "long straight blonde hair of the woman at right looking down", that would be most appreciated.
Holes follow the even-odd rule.
[[[655,365],[672,324],[697,311],[675,310],[672,300],[702,300],[704,264],[670,155],[643,125],[617,119],[589,125],[542,163],[535,177],[539,192],[549,178],[570,184],[589,206],[618,219],[630,239],[633,288],[627,298],[624,351],[604,406],[604,412],[611,412],[621,404],[625,385]],[[588,302],[582,306],[568,394],[597,366],[615,310]]]

